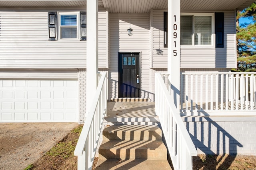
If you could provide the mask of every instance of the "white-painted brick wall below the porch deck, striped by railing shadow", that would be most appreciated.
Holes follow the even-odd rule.
[[[198,154],[256,155],[256,121],[209,120],[184,123]]]

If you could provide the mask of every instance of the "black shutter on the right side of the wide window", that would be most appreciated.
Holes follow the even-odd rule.
[[[224,48],[224,13],[215,13],[216,48]]]

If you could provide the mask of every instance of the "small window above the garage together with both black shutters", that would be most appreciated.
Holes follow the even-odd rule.
[[[48,28],[49,41],[86,40],[86,12],[49,12]]]

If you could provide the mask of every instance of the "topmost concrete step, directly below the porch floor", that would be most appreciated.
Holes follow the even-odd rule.
[[[158,125],[112,125],[103,130],[103,140],[162,140]]]

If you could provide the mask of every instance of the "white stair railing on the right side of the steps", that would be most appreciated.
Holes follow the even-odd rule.
[[[192,156],[197,156],[196,148],[163,78],[160,73],[155,75],[156,114],[160,119],[172,164],[175,170],[192,170]]]

